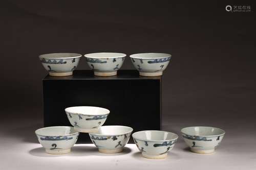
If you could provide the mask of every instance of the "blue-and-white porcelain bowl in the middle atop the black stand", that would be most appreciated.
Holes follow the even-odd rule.
[[[86,61],[94,70],[95,76],[115,76],[123,65],[126,54],[122,53],[91,53],[86,54]]]

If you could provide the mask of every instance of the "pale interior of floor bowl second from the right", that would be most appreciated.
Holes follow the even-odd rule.
[[[172,132],[165,131],[139,131],[135,132],[133,134],[133,137],[141,140],[161,141],[177,139],[178,135]]]

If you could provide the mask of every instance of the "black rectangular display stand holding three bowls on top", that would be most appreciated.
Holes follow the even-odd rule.
[[[141,77],[136,70],[119,70],[117,76],[97,77],[92,70],[75,70],[73,76],[46,76],[44,126],[72,126],[65,108],[97,106],[110,110],[104,125],[141,130],[161,129],[161,77]],[[130,139],[130,141],[132,141]],[[91,143],[80,133],[79,143]]]

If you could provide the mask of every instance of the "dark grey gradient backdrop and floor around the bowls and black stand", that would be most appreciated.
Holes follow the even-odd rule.
[[[0,169],[45,169],[57,162],[62,169],[83,167],[82,157],[69,164],[42,158],[47,155],[36,149],[41,79],[47,75],[38,55],[57,52],[170,53],[172,63],[163,75],[163,130],[180,135],[182,127],[203,125],[226,131],[212,159],[192,155],[179,138],[172,161],[140,160],[134,150],[139,158],[120,157],[121,167],[130,168],[123,160],[163,169],[191,163],[197,169],[255,169],[256,6],[252,1],[189,2],[1,1]],[[250,5],[252,12],[226,12],[226,5]],[[122,69],[133,68],[127,57]],[[78,69],[89,69],[84,58]],[[120,168],[112,161],[116,158],[105,158],[102,166]]]

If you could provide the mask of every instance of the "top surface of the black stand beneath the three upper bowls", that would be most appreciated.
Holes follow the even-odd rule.
[[[116,76],[94,76],[93,70],[74,70],[72,76],[54,77],[47,75],[43,80],[118,80],[118,79],[143,79],[143,80],[161,80],[161,76],[144,77],[139,76],[137,70],[118,70]]]

